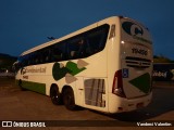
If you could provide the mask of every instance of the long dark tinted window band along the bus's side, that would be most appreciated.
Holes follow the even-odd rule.
[[[18,58],[21,67],[65,60],[84,58],[104,49],[109,25],[102,25]]]

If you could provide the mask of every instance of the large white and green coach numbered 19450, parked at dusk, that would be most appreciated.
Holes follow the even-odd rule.
[[[112,16],[23,52],[15,79],[67,109],[130,112],[151,101],[152,57],[149,29]]]

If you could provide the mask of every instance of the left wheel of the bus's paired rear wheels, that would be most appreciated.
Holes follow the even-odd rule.
[[[61,94],[59,93],[59,89],[58,87],[51,87],[51,90],[50,90],[50,98],[51,98],[51,101],[54,105],[60,105],[62,102],[61,102]]]

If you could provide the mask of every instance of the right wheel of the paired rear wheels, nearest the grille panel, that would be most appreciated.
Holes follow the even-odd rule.
[[[67,109],[70,110],[76,109],[76,105],[74,101],[74,92],[71,88],[66,88],[63,91],[63,103]]]

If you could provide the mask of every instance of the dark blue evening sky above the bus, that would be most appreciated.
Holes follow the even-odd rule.
[[[156,55],[174,60],[174,0],[0,0],[0,53],[22,52],[110,16],[151,32]]]

